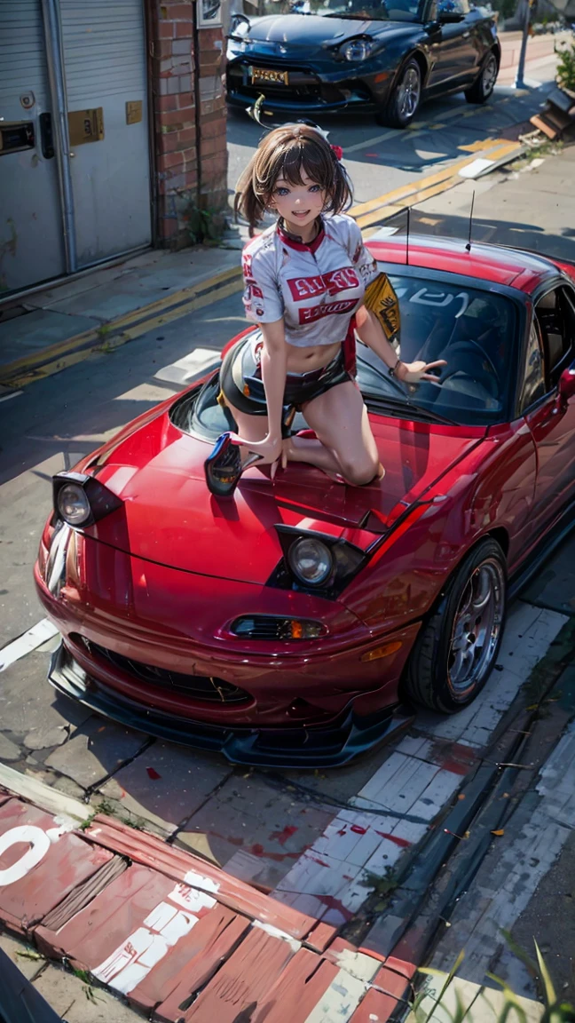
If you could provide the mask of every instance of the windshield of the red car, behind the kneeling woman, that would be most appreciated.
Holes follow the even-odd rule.
[[[500,422],[510,407],[517,365],[515,304],[491,291],[425,276],[390,273],[401,312],[401,358],[404,362],[445,359],[441,386],[401,384],[381,359],[358,346],[359,387],[374,411],[482,426]],[[396,345],[397,348],[397,345]],[[416,406],[413,407],[413,406]]]

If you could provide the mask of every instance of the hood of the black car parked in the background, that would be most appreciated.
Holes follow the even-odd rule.
[[[413,25],[401,21],[373,21],[365,18],[323,17],[316,14],[281,14],[254,18],[246,37],[241,38],[242,49],[253,52],[282,56],[285,47],[305,49],[327,48],[344,43],[356,36],[368,35],[388,39],[403,36],[413,31]],[[231,37],[232,50],[238,45]]]

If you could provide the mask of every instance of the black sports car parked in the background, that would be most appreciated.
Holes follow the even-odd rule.
[[[493,91],[501,53],[495,15],[469,0],[257,2],[257,16],[232,20],[232,107],[264,93],[266,109],[366,106],[380,124],[403,128],[423,99],[463,90],[483,103]]]

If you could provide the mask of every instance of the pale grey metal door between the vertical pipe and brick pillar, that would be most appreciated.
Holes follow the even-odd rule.
[[[151,238],[142,0],[59,0],[78,265]]]

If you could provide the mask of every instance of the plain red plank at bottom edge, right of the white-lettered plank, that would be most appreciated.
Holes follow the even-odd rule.
[[[267,1004],[271,989],[294,957],[293,944],[254,928],[179,1020],[237,1023],[251,1019],[256,1009]]]

